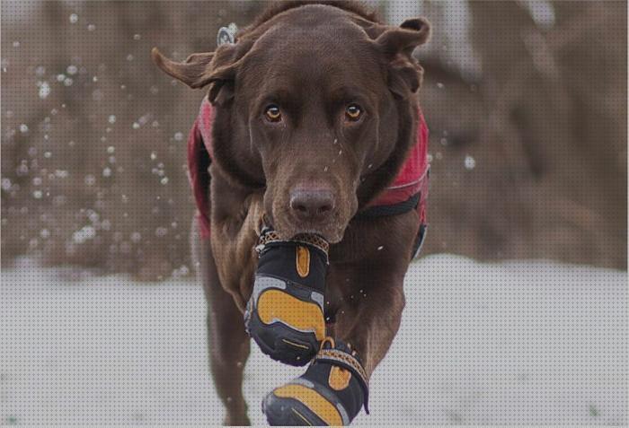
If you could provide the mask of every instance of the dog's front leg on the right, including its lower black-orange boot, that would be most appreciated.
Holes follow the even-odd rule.
[[[360,221],[331,253],[325,300],[336,322],[306,373],[265,398],[270,424],[349,424],[368,409],[368,380],[400,327],[418,224],[415,212]]]

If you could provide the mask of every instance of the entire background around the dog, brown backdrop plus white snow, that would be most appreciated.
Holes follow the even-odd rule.
[[[626,424],[626,2],[367,3],[433,24],[415,52],[432,169],[356,424]],[[264,5],[1,2],[0,424],[222,420],[189,251],[205,92],[149,52],[213,50]],[[253,423],[299,374],[252,346]]]

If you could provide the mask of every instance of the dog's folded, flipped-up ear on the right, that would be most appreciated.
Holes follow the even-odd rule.
[[[396,96],[407,98],[421,86],[423,68],[412,57],[412,51],[430,39],[430,22],[412,18],[399,27],[378,30],[375,42],[388,61],[389,89]]]

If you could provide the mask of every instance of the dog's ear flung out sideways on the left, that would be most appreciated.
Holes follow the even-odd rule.
[[[208,99],[212,104],[224,105],[234,98],[238,61],[248,51],[248,45],[248,43],[221,45],[214,52],[192,54],[181,63],[164,57],[157,48],[153,48],[151,57],[166,74],[182,81],[190,88],[202,88],[211,83]]]

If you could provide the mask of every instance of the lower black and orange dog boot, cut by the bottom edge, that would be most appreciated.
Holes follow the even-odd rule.
[[[270,425],[348,425],[365,406],[368,380],[356,353],[326,338],[302,376],[262,401]]]

